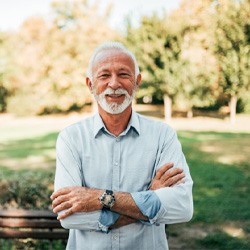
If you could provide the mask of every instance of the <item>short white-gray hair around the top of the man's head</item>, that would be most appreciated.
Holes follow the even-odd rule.
[[[134,62],[134,65],[135,65],[135,76],[137,77],[140,74],[140,69],[139,69],[139,66],[137,64],[135,55],[130,50],[128,50],[122,43],[119,43],[119,42],[105,42],[105,43],[99,45],[95,49],[95,51],[92,54],[92,56],[90,57],[88,71],[87,71],[87,76],[90,79],[92,79],[92,68],[93,68],[93,64],[94,64],[96,56],[100,52],[105,51],[105,50],[117,50],[117,51],[121,51],[121,52],[127,54],[133,60],[133,62]]]

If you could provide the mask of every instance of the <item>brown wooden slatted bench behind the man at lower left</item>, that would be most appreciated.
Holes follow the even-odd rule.
[[[0,238],[66,240],[56,214],[44,210],[0,210]]]

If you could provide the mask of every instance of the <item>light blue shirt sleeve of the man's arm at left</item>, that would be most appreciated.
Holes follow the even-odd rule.
[[[78,149],[63,130],[56,143],[56,174],[55,191],[64,187],[84,186],[81,171],[81,159]],[[59,214],[64,211],[59,212]],[[100,230],[99,218],[101,211],[90,213],[74,213],[62,219],[61,225],[67,229]]]

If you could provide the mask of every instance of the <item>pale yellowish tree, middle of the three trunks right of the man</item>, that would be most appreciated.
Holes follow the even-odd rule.
[[[216,58],[209,50],[211,6],[211,0],[183,0],[168,19],[169,25],[179,27],[183,36],[181,57],[186,65],[181,71],[178,101],[185,105],[189,117],[193,116],[193,107],[210,106],[219,95]]]

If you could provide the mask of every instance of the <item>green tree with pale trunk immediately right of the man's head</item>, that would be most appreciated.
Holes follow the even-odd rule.
[[[128,26],[126,43],[140,62],[142,90],[147,88],[143,94],[163,97],[165,117],[170,120],[184,62],[180,57],[182,37],[167,27],[165,18],[143,17],[139,28]]]

